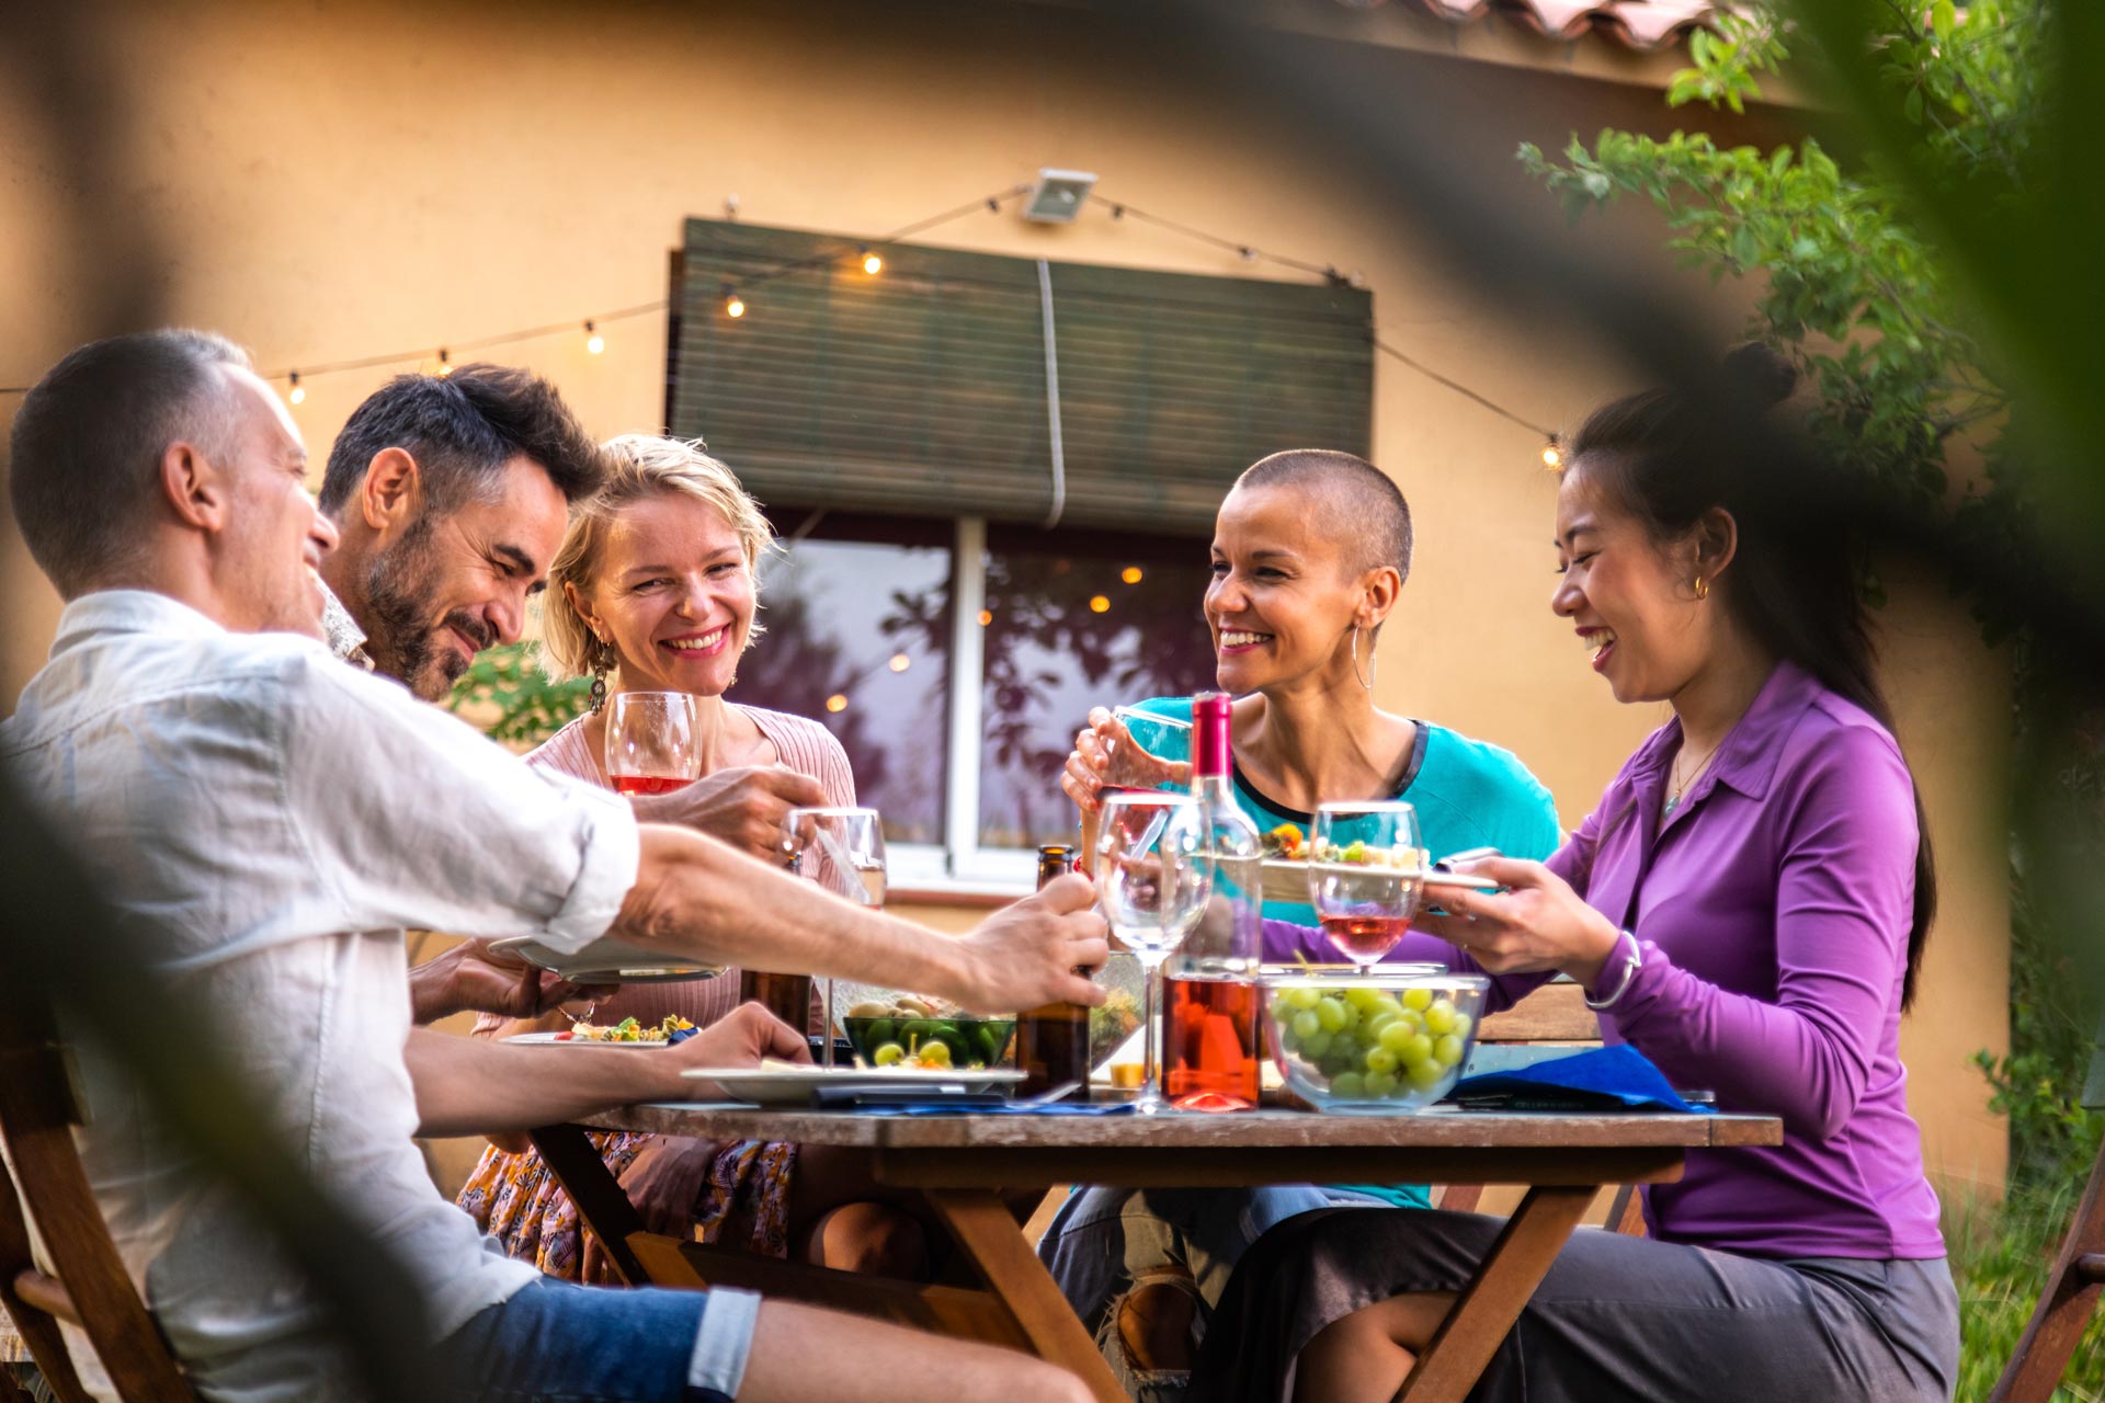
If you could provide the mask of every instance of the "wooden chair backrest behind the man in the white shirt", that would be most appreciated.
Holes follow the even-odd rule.
[[[78,1123],[72,1060],[48,1018],[19,1005],[0,1010],[0,1140],[15,1176],[0,1193],[0,1300],[61,1403],[86,1403],[59,1340],[61,1319],[86,1331],[126,1403],[194,1399],[88,1191],[74,1144]],[[29,1256],[29,1224],[51,1275]]]

